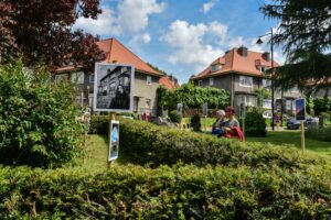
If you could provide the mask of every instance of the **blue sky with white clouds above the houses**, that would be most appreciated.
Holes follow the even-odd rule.
[[[78,19],[74,29],[116,37],[143,61],[186,82],[227,50],[256,45],[258,35],[277,26],[264,18],[264,0],[104,0],[98,19]],[[276,30],[275,30],[276,31]],[[267,36],[268,37],[268,36]],[[265,37],[265,42],[268,38]],[[284,63],[280,48],[275,59]]]

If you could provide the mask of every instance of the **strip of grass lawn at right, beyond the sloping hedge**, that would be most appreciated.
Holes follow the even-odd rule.
[[[295,145],[301,147],[300,131],[268,131],[266,138],[246,138],[247,142],[264,142],[278,145]],[[317,141],[313,139],[306,139],[306,150],[331,156],[331,142]]]

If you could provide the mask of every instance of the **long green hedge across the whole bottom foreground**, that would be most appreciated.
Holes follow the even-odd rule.
[[[0,219],[328,219],[330,166],[0,167]]]

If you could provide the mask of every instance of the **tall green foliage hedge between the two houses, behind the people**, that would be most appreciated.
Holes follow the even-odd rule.
[[[224,89],[194,87],[192,84],[184,84],[174,91],[162,87],[158,90],[161,108],[174,108],[177,103],[183,103],[189,108],[201,108],[205,102],[209,103],[209,108],[225,108],[228,99],[229,95]]]

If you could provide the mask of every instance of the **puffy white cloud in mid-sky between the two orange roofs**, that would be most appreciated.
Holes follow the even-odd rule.
[[[181,20],[172,22],[168,33],[162,37],[171,47],[175,48],[174,53],[169,56],[169,62],[193,66],[196,72],[205,68],[224,53],[213,46],[218,41],[220,28],[225,32],[227,30],[218,22],[199,23],[196,25]],[[209,44],[205,41],[206,35],[215,36],[214,42]]]

